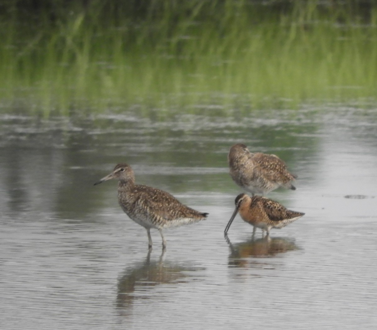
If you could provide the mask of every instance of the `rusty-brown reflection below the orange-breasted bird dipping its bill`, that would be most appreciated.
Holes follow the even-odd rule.
[[[229,244],[231,253],[229,266],[248,267],[250,264],[261,264],[260,261],[251,261],[251,258],[273,257],[280,253],[299,250],[293,240],[282,237],[265,236],[260,239],[251,239],[246,242],[232,244],[227,235],[225,240]]]

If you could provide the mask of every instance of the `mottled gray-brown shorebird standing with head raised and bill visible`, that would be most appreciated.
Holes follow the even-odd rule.
[[[145,185],[136,185],[132,168],[126,163],[115,166],[112,173],[103,177],[94,185],[103,181],[118,179],[118,202],[123,211],[137,224],[146,228],[149,247],[152,247],[150,228],[159,230],[162,247],[166,247],[166,239],[162,229],[178,227],[204,220],[208,213],[193,210],[181,204],[166,191]]]

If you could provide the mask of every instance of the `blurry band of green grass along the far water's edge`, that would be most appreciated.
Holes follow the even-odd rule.
[[[377,95],[375,8],[365,22],[315,2],[151,1],[139,16],[90,4],[1,21],[2,112],[226,115]]]

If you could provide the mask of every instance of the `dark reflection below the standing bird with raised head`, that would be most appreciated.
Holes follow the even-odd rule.
[[[179,264],[164,261],[165,249],[156,261],[150,260],[148,251],[144,262],[126,268],[118,280],[118,295],[116,307],[123,309],[126,314],[128,308],[137,300],[152,298],[151,289],[160,284],[186,283],[192,275],[189,271],[203,270],[201,267],[183,267]]]

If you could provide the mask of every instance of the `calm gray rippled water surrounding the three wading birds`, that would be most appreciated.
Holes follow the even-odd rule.
[[[248,118],[0,117],[1,329],[374,329],[377,109]],[[236,142],[299,178],[269,195],[306,213],[271,241],[238,216],[227,170]],[[136,180],[210,213],[167,230],[167,250],[127,219],[118,162]]]

